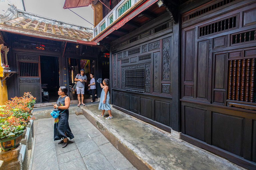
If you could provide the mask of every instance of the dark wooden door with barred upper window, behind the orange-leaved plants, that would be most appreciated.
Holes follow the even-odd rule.
[[[40,56],[16,54],[18,64],[19,94],[31,92],[36,97],[36,103],[42,102]]]

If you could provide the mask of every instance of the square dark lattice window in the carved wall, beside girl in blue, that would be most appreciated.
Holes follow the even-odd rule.
[[[126,88],[144,90],[144,84],[144,69],[125,71]]]

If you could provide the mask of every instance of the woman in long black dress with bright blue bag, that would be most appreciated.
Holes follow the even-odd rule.
[[[69,137],[69,139],[74,138],[68,124],[70,98],[68,97],[67,92],[68,89],[65,86],[61,86],[58,91],[58,95],[60,95],[60,97],[57,103],[53,106],[55,110],[59,110],[61,113],[54,121],[54,141],[61,139],[58,144],[63,143],[62,147],[66,147],[68,145],[67,137]]]

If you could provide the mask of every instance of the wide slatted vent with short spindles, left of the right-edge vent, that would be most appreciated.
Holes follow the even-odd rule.
[[[199,37],[236,27],[236,16],[199,28]]]

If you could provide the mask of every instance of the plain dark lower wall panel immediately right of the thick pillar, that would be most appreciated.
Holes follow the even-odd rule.
[[[204,141],[205,110],[185,107],[185,134]]]

